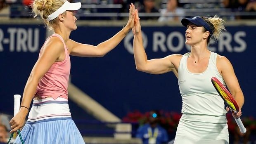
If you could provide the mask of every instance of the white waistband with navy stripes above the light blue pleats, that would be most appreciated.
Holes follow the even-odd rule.
[[[27,123],[39,123],[52,120],[71,119],[68,100],[64,98],[33,99]]]

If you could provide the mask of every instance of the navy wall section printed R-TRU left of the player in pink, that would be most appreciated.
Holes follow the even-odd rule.
[[[0,113],[13,115],[13,95],[22,95],[45,36],[44,26],[0,25]]]

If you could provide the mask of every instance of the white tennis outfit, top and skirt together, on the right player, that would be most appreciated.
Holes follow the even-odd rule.
[[[227,111],[211,83],[214,76],[225,85],[216,66],[217,54],[211,52],[208,67],[203,73],[188,71],[189,54],[184,54],[178,68],[183,115],[174,144],[229,144]]]

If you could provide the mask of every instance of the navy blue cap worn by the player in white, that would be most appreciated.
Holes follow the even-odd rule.
[[[213,31],[211,30],[210,26],[204,21],[204,19],[202,19],[201,17],[193,17],[192,19],[189,18],[185,18],[181,20],[181,24],[185,27],[187,27],[188,23],[192,23],[195,24],[197,26],[204,26],[204,28],[206,29],[206,31],[210,32],[210,35],[213,34]]]

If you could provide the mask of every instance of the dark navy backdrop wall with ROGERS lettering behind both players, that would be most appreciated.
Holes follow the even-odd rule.
[[[38,39],[37,28],[40,31]],[[13,106],[9,107],[13,105],[12,96],[22,94],[29,73],[38,58],[39,48],[45,40],[45,30],[38,26],[1,26],[1,29],[3,34],[0,34],[2,62],[0,111],[12,113]],[[97,45],[120,30],[121,27],[112,26],[79,26],[71,33],[70,38],[77,42]],[[181,26],[142,26],[148,59],[189,52],[190,47],[185,45],[185,30],[186,28]],[[256,80],[254,76],[256,27],[228,26],[227,30],[218,43],[211,42],[209,50],[231,61],[244,92],[243,115],[256,116],[255,110],[252,109],[252,102],[256,101],[256,97],[252,95],[256,88],[253,83]],[[9,43],[6,42],[6,38],[9,38]],[[133,110],[145,112],[160,109],[180,112],[182,107],[178,80],[173,73],[152,75],[136,70],[132,32],[104,57],[71,56],[71,82],[119,118]],[[71,107],[71,112],[75,113],[75,109],[72,110]]]

